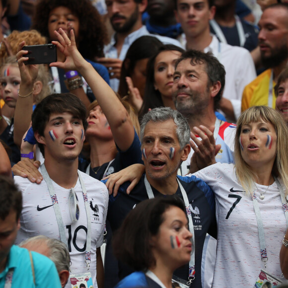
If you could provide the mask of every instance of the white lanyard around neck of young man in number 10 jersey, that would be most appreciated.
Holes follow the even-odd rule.
[[[53,187],[52,180],[49,177],[44,164],[40,166],[40,169],[41,169],[43,178],[48,186],[49,193],[50,193],[55,216],[56,216],[57,223],[58,223],[60,239],[62,242],[67,243],[67,238],[65,235],[65,227],[64,227],[62,215],[60,212],[60,207],[58,204],[58,200],[57,200],[57,196]],[[84,204],[85,204],[85,209],[86,209],[86,216],[87,216],[87,240],[86,240],[85,263],[86,263],[86,270],[89,270],[90,268],[89,264],[91,263],[91,253],[90,253],[91,251],[91,217],[90,217],[90,209],[89,209],[89,204],[88,204],[86,188],[85,188],[82,176],[79,173],[79,171],[78,171],[78,177],[79,177],[79,181],[80,181],[81,188],[82,188],[82,194],[83,194],[83,199],[84,199]]]

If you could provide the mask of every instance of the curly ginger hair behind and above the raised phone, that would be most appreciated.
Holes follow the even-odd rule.
[[[23,32],[14,30],[5,39],[9,42],[13,55],[16,55],[18,45],[22,41],[25,41],[26,46],[43,45],[47,43],[46,38],[41,36],[41,34],[36,30],[23,31]],[[6,50],[6,46],[2,44],[0,47],[0,59],[4,59],[6,57],[8,57],[8,52]]]

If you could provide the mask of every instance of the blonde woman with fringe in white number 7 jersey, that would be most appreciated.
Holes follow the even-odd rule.
[[[195,175],[215,192],[218,239],[213,287],[254,287],[261,270],[280,278],[287,229],[288,129],[272,108],[251,107],[237,122],[235,165]]]

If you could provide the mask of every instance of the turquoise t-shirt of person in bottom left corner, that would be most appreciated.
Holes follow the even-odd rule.
[[[13,245],[8,255],[4,271],[0,274],[0,287],[5,286],[9,269],[14,269],[11,288],[61,288],[60,279],[54,263],[44,255],[31,252],[35,273],[35,285],[27,249]]]

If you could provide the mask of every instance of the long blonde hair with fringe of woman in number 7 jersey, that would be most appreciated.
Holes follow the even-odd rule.
[[[248,193],[253,192],[254,181],[257,181],[257,175],[255,175],[249,165],[244,161],[241,155],[241,147],[239,143],[239,137],[242,131],[243,125],[249,123],[256,123],[264,121],[271,123],[276,131],[277,144],[276,144],[276,158],[272,168],[272,174],[275,177],[279,177],[283,181],[284,189],[288,191],[288,128],[283,120],[282,115],[266,106],[254,106],[244,111],[237,121],[237,129],[235,135],[234,144],[234,157],[235,157],[235,172],[236,176]]]

